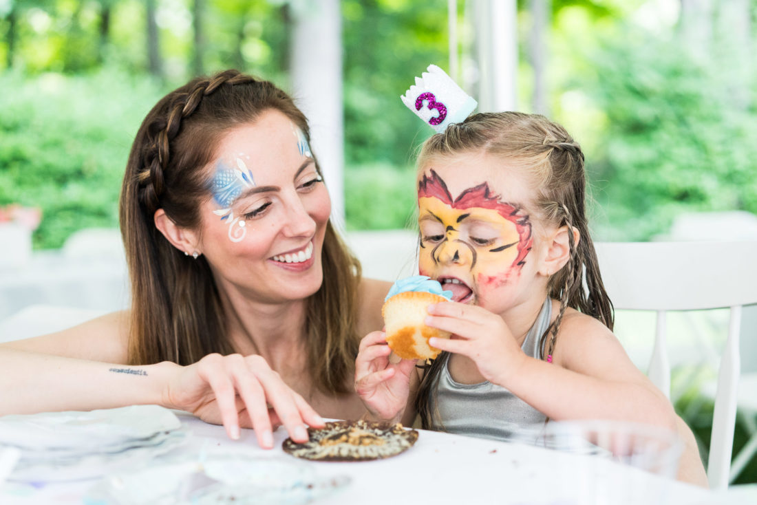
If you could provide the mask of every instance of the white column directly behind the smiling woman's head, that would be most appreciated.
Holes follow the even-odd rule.
[[[332,220],[344,229],[344,109],[338,0],[291,2],[292,96],[310,123],[310,148],[332,198]]]

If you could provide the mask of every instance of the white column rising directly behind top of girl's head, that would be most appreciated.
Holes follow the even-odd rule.
[[[516,0],[475,0],[479,112],[516,109],[517,17]]]

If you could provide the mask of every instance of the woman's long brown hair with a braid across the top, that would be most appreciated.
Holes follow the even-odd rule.
[[[154,225],[162,208],[177,226],[196,228],[208,175],[226,132],[254,123],[266,110],[285,114],[310,142],[304,114],[273,83],[226,70],[170,92],[142,122],[126,164],[120,226],[131,280],[129,363],[195,363],[232,354],[225,312],[210,265],[177,250]],[[320,168],[316,161],[316,169]],[[332,223],[322,249],[323,282],[307,300],[304,345],[313,385],[347,392],[354,369],[360,263]]]

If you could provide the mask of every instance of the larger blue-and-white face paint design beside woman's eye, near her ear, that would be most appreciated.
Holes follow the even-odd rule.
[[[254,176],[248,168],[249,161],[250,157],[244,153],[237,154],[231,162],[218,160],[216,173],[210,182],[213,200],[221,207],[219,210],[213,210],[213,214],[229,223],[229,240],[232,242],[240,242],[247,235],[247,223],[234,215],[232,205],[245,189],[255,186]]]

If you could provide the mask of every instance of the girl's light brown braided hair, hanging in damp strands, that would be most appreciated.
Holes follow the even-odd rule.
[[[565,128],[544,116],[519,112],[473,114],[431,136],[421,148],[418,167],[434,157],[463,152],[483,152],[522,167],[536,189],[537,217],[554,226],[568,226],[579,233],[578,244],[569,233],[570,258],[550,277],[551,298],[560,301],[553,323],[541,335],[544,356],[553,354],[556,336],[567,307],[596,317],[612,329],[614,315],[600,275],[597,253],[589,234],[585,199],[584,153]],[[585,280],[585,285],[584,285]],[[431,427],[431,394],[446,357],[441,354],[425,372],[416,397],[423,428]]]

